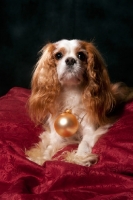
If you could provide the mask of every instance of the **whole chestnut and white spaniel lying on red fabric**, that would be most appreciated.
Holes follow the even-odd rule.
[[[124,103],[133,98],[132,89],[110,82],[104,59],[91,42],[61,40],[48,43],[41,53],[28,107],[31,119],[45,131],[26,156],[42,165],[63,147],[78,143],[77,150],[63,154],[63,160],[90,166],[98,159],[92,148],[117,119]],[[75,134],[64,137],[57,134],[55,120],[67,109],[79,127]]]

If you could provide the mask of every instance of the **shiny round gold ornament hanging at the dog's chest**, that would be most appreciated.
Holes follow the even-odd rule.
[[[56,118],[54,127],[59,135],[70,137],[77,132],[79,123],[75,115],[71,113],[71,110],[66,110]]]

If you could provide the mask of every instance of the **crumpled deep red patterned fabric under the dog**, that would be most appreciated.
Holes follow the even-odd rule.
[[[39,166],[24,155],[42,131],[26,112],[29,94],[27,89],[13,88],[0,98],[0,199],[132,200],[133,102],[95,145],[96,165],[53,160]],[[67,147],[71,148],[75,147]]]

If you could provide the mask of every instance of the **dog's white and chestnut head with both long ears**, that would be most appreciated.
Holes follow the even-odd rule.
[[[115,100],[105,62],[93,43],[61,40],[47,44],[41,52],[32,78],[31,117],[42,122],[52,112],[61,88],[82,86],[83,103],[92,121],[104,124]]]

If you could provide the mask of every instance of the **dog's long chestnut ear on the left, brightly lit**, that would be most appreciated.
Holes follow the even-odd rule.
[[[52,112],[54,100],[60,90],[53,55],[54,49],[52,43],[44,46],[33,72],[28,107],[31,119],[37,124],[43,123],[45,116]]]

